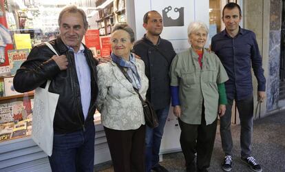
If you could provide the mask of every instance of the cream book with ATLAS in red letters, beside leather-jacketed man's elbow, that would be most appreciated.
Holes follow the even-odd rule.
[[[16,74],[17,69],[21,67],[21,64],[27,60],[29,52],[29,49],[8,50],[8,58],[12,76]]]

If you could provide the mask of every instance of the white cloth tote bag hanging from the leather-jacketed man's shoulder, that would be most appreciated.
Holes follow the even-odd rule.
[[[49,45],[47,46],[51,46],[51,50],[58,55],[52,45]],[[52,155],[54,113],[59,100],[59,94],[48,92],[50,82],[50,80],[47,80],[44,89],[41,87],[36,88],[32,114],[32,140],[49,156]]]

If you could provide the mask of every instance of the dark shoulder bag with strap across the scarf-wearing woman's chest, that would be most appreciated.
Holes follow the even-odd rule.
[[[132,83],[133,80],[131,80],[125,69],[123,69],[123,67],[118,64],[117,66],[120,69],[120,71],[123,72],[127,80],[129,80],[129,82]],[[140,98],[140,101],[142,102],[143,114],[145,114],[145,122],[147,123],[147,126],[149,126],[152,129],[158,127],[158,116],[156,116],[156,111],[154,111],[154,107],[152,107],[151,103],[148,100],[142,99],[142,96],[140,96],[138,89],[134,87],[134,90],[138,94],[138,98]]]

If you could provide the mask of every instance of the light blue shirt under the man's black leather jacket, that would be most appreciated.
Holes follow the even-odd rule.
[[[68,47],[72,52],[74,50],[72,47]],[[76,73],[80,87],[81,94],[81,105],[84,114],[84,118],[86,119],[88,116],[90,101],[91,101],[91,76],[89,65],[86,61],[86,57],[84,54],[84,46],[81,44],[78,52],[74,52],[74,60],[76,65]]]

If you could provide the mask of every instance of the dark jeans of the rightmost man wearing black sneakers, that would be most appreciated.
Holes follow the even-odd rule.
[[[240,147],[242,158],[251,155],[251,137],[253,133],[253,96],[244,100],[235,100],[237,110],[240,114]],[[220,134],[222,138],[222,149],[226,155],[233,155],[233,139],[231,137],[231,108],[233,100],[228,100],[226,113],[220,118]]]

